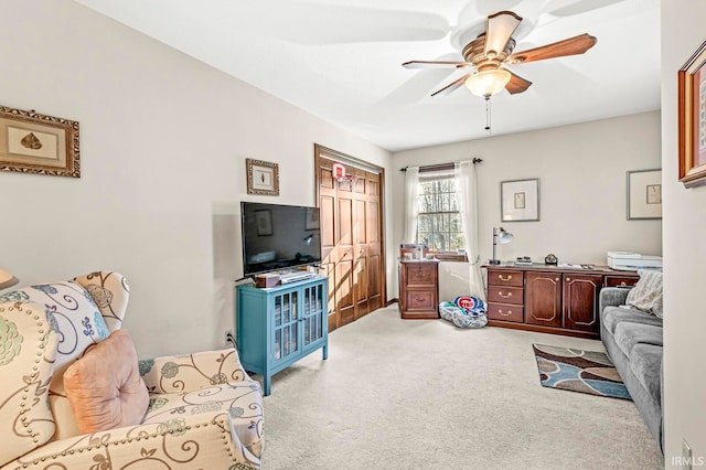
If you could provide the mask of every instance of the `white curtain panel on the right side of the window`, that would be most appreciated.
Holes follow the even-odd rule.
[[[480,252],[478,249],[478,183],[475,165],[472,161],[454,164],[456,192],[459,201],[459,213],[463,226],[463,242],[469,260],[469,292],[485,300],[483,277],[481,275]]]

